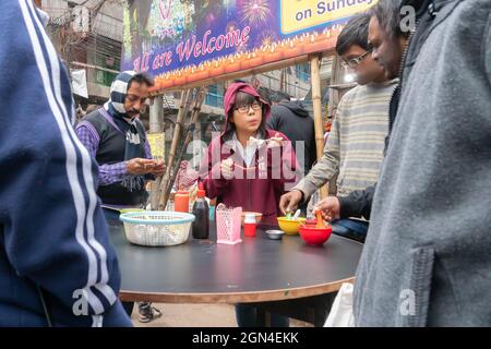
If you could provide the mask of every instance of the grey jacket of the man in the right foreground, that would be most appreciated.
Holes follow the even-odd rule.
[[[358,326],[491,325],[491,0],[434,3],[373,198]]]

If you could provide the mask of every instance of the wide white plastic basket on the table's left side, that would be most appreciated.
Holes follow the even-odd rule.
[[[122,214],[127,239],[144,246],[171,246],[188,241],[194,215],[177,212],[132,212]]]

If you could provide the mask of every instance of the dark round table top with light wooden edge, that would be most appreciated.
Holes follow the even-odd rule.
[[[211,224],[214,226],[214,222]],[[123,301],[247,303],[280,301],[336,291],[354,280],[362,244],[331,236],[310,246],[299,236],[270,240],[258,230],[236,245],[191,237],[181,245],[131,244],[124,228],[111,226],[121,269]]]

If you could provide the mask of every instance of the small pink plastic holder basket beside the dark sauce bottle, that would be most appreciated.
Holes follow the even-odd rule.
[[[224,204],[216,207],[217,243],[236,244],[240,239],[242,207],[227,208]]]

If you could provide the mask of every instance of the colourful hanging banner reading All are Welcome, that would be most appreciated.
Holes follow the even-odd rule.
[[[331,50],[378,0],[137,0],[124,9],[123,70],[179,87]]]

